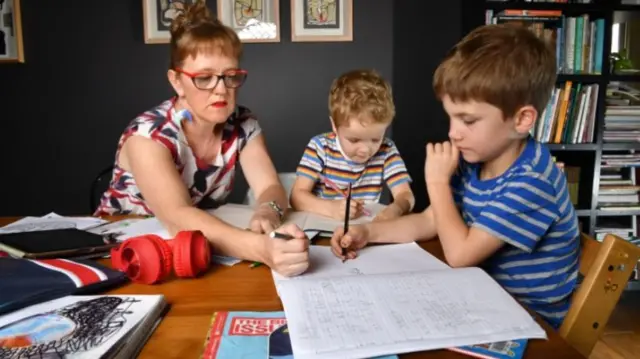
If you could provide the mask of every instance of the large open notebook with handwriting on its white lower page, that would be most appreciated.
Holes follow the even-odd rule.
[[[450,268],[417,244],[367,247],[342,261],[311,246],[309,272],[273,273],[295,358],[369,358],[545,331],[479,268]]]

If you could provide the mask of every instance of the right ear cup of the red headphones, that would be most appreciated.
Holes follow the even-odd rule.
[[[179,232],[173,242],[173,269],[178,277],[192,278],[211,261],[209,242],[200,231]]]

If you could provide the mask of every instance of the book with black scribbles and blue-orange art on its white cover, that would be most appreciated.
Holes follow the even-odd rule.
[[[168,305],[162,295],[67,296],[0,316],[0,358],[134,358]]]

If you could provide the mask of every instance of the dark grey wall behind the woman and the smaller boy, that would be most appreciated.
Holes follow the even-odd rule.
[[[405,8],[426,2],[399,2],[417,24]],[[335,76],[375,68],[392,81],[393,61],[393,0],[355,0],[354,41],[344,43],[291,43],[289,3],[280,1],[281,43],[245,46],[250,75],[240,95],[281,172],[295,170],[309,138],[330,129]],[[26,63],[0,65],[0,215],[86,214],[91,181],[113,161],[124,126],[172,94],[168,46],[144,44],[139,0],[23,0],[22,20]],[[428,32],[414,39],[431,41]],[[403,120],[414,119],[405,112]],[[239,183],[232,200],[245,191]]]

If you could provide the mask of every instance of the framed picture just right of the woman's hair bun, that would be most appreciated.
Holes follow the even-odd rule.
[[[242,42],[280,42],[279,0],[218,0],[218,18]]]

